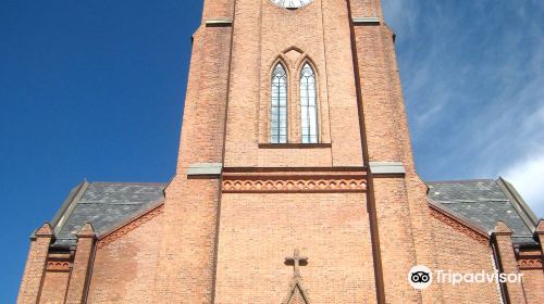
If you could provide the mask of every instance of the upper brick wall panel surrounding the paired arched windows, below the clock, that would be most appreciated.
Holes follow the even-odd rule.
[[[292,48],[298,51],[283,56]],[[225,166],[362,166],[345,1],[316,0],[295,11],[268,0],[238,1],[232,52]],[[259,148],[269,142],[270,71],[279,56],[289,81],[289,142],[300,142],[297,83],[300,66],[309,59],[319,80],[320,138],[331,148]]]

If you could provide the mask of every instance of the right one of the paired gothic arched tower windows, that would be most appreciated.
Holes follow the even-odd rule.
[[[318,105],[316,74],[306,63],[300,72],[300,123],[302,143],[318,143]]]

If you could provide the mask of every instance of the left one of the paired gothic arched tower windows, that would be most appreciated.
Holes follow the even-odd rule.
[[[271,80],[270,142],[287,143],[287,74],[281,63]]]

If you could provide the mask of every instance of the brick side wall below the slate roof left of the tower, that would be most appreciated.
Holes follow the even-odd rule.
[[[149,303],[163,219],[158,215],[107,244],[98,243],[88,303]]]

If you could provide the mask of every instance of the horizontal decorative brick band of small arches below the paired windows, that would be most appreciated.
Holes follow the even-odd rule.
[[[364,174],[236,174],[223,176],[223,192],[366,192]]]

